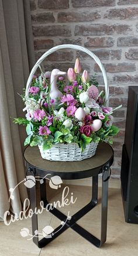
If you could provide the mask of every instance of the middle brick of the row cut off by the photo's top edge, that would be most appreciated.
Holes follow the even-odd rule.
[[[73,7],[115,6],[115,0],[72,0]]]

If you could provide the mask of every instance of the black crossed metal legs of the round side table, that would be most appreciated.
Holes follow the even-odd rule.
[[[32,168],[28,169],[28,172],[33,173],[34,170]],[[58,235],[63,233],[67,228],[72,228],[74,231],[76,231],[78,234],[80,234],[82,237],[84,237],[86,240],[88,240],[90,243],[94,244],[96,247],[101,247],[102,244],[106,241],[106,230],[107,230],[107,213],[108,213],[108,179],[110,176],[110,168],[108,165],[102,167],[102,203],[101,203],[101,240],[96,238],[94,235],[89,233],[87,230],[82,228],[80,225],[78,225],[76,222],[81,219],[82,216],[84,216],[88,211],[93,209],[97,202],[98,202],[98,175],[92,176],[92,199],[91,202],[89,202],[86,206],[84,206],[81,210],[77,211],[73,216],[71,216],[71,220],[67,220],[67,216],[65,214],[61,213],[60,210],[56,209],[55,207],[52,210],[49,210],[54,216],[56,216],[61,221],[65,221],[65,225],[58,226],[54,230],[54,235],[50,238],[42,238],[42,240],[39,241],[39,238],[35,236],[34,231],[38,230],[38,221],[37,221],[37,214],[34,213],[32,216],[32,234],[33,242],[37,245],[37,247],[42,248],[45,245],[49,244],[51,241],[53,241]],[[40,197],[41,200],[44,202],[44,207],[49,203],[47,202],[46,198],[46,183],[40,185]],[[36,203],[36,186],[33,186],[30,189],[30,206],[31,209],[34,211],[37,207]],[[58,232],[57,232],[58,231]]]

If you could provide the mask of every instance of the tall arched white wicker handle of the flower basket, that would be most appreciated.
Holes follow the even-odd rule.
[[[25,91],[25,95],[26,97],[28,97],[28,94],[29,94],[29,88],[30,88],[30,84],[32,83],[32,78],[33,78],[33,75],[34,73],[36,72],[37,70],[37,67],[39,67],[40,63],[43,62],[43,60],[49,56],[51,53],[54,53],[56,52],[57,50],[60,50],[60,49],[67,49],[67,48],[71,48],[71,49],[75,49],[75,50],[81,50],[82,52],[85,52],[87,53],[89,56],[92,57],[92,59],[95,60],[95,62],[98,64],[99,68],[101,69],[102,71],[102,75],[104,77],[104,83],[105,83],[105,101],[107,102],[108,101],[108,98],[109,98],[109,87],[108,87],[108,79],[107,79],[107,75],[106,75],[106,71],[105,71],[105,68],[104,66],[102,65],[101,61],[99,60],[99,58],[94,54],[92,53],[90,50],[82,47],[82,46],[78,46],[78,45],[58,45],[58,46],[55,46],[53,48],[51,48],[50,50],[48,50],[46,53],[44,53],[42,55],[42,57],[40,57],[39,60],[37,60],[36,64],[34,65],[33,69],[31,70],[30,72],[30,75],[29,75],[29,78],[27,80],[27,84],[26,84],[26,91]]]

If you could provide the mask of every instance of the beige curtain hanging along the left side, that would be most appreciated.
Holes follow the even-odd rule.
[[[9,201],[9,189],[25,178],[23,141],[25,129],[10,117],[21,117],[22,94],[34,64],[32,26],[28,0],[0,0],[0,218],[11,210],[19,214],[27,197],[20,185]]]

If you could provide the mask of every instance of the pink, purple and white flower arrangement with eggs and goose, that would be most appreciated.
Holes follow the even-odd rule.
[[[99,92],[95,76],[90,79],[87,70],[81,73],[79,59],[67,73],[54,69],[33,76],[28,96],[22,98],[26,118],[14,122],[26,125],[25,145],[47,150],[54,144],[76,143],[84,151],[91,142],[112,144],[111,137],[119,132],[112,125],[117,108],[105,107],[104,91]]]

